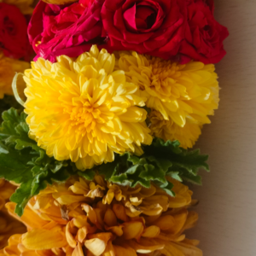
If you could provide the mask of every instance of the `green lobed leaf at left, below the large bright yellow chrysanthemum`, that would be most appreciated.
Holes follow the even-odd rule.
[[[47,183],[65,181],[74,173],[70,161],[57,161],[49,157],[44,149],[28,137],[28,131],[25,113],[19,114],[14,108],[3,112],[0,127],[0,177],[20,183],[20,188],[11,196],[11,201],[17,203],[15,212],[19,216],[27,201],[45,189]]]

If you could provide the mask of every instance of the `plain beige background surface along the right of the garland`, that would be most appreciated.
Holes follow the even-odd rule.
[[[230,30],[217,65],[220,106],[195,148],[209,154],[198,226],[205,256],[256,255],[256,0],[215,0],[215,17]]]

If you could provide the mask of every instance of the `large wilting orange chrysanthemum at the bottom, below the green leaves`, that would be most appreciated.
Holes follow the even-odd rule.
[[[154,185],[131,189],[101,176],[49,186],[21,217],[29,231],[11,237],[0,255],[201,256],[198,242],[183,235],[197,220],[187,209],[192,192],[172,183],[176,197]],[[14,203],[8,207],[14,212]]]

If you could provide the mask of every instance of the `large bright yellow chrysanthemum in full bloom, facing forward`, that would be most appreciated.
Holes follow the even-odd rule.
[[[152,142],[138,87],[114,65],[114,55],[96,46],[76,60],[32,62],[25,72],[26,122],[47,154],[85,170],[113,161],[114,153],[142,154],[141,144]]]

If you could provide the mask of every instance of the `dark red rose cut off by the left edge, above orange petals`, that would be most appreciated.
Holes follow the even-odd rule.
[[[30,53],[26,18],[14,5],[0,3],[0,50],[15,59]]]

